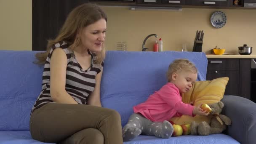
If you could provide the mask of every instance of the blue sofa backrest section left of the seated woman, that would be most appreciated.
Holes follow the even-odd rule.
[[[33,64],[35,53],[0,51],[0,131],[29,130],[43,73],[43,66]]]

